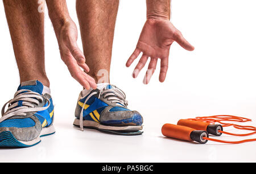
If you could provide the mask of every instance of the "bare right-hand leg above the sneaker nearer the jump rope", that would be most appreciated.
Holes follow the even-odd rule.
[[[96,83],[100,70],[110,72],[115,19],[119,0],[77,0],[76,10],[79,19],[82,45],[89,75]],[[103,81],[101,81],[103,82]],[[109,78],[107,81],[109,82]]]

